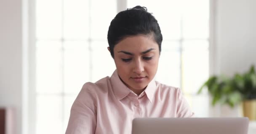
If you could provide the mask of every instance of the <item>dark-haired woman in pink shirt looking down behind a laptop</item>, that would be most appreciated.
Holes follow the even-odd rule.
[[[107,39],[116,70],[83,85],[66,134],[131,134],[134,118],[194,116],[179,88],[154,80],[163,37],[147,8],[118,13]]]

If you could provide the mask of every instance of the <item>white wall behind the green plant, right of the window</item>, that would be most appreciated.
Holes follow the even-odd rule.
[[[213,0],[213,74],[233,76],[256,66],[256,0]],[[241,116],[216,106],[211,116]]]

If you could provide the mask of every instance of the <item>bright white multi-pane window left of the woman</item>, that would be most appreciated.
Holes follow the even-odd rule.
[[[116,13],[115,0],[36,0],[36,134],[64,134],[83,84],[115,70],[107,30]]]

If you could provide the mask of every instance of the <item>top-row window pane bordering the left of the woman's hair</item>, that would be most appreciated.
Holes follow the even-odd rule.
[[[116,0],[91,0],[91,38],[107,39],[110,22],[116,14]]]

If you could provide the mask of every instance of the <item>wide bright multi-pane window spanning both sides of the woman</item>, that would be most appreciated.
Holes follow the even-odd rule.
[[[202,108],[208,106],[206,93],[196,95],[209,75],[208,0],[123,3],[119,1],[129,8],[146,6],[159,21],[163,43],[156,80],[180,87],[197,116],[208,116]],[[83,84],[112,75],[115,63],[107,50],[107,31],[117,4],[36,0],[36,134],[64,134]]]

